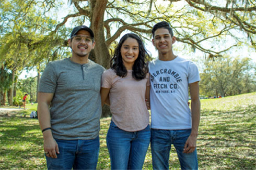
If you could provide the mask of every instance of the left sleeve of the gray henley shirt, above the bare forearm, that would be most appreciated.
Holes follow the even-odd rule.
[[[38,91],[43,93],[55,93],[57,87],[57,75],[51,63],[49,63],[41,76]]]

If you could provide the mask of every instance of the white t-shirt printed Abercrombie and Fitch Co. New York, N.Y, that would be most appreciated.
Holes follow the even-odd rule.
[[[176,57],[149,63],[151,128],[191,128],[189,84],[200,81],[196,65]]]

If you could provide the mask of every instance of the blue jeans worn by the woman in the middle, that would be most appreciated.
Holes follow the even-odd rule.
[[[149,125],[136,132],[126,132],[111,121],[107,146],[111,169],[142,169],[150,143]]]

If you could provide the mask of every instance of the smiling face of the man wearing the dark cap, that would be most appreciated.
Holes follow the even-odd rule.
[[[76,33],[76,37],[68,40],[69,47],[72,48],[72,57],[87,57],[95,47],[94,41],[91,40],[90,33],[85,30],[80,30]]]

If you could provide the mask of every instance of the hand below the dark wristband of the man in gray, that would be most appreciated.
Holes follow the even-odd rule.
[[[57,158],[57,154],[60,153],[58,144],[53,137],[44,139],[43,148],[45,155],[51,158]]]

